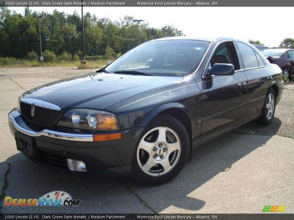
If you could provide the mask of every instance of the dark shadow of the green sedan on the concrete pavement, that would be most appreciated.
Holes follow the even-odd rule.
[[[10,163],[9,161],[15,161],[14,157],[18,160],[23,157],[23,161],[9,165],[9,184],[5,194],[12,198],[39,198],[51,191],[65,191],[73,199],[81,200],[81,205],[75,207],[73,213],[164,213],[170,207],[177,207],[177,210],[169,209],[166,212],[193,212],[205,206],[205,197],[193,193],[196,189],[218,174],[226,174],[234,163],[264,146],[271,137],[272,135],[225,134],[195,147],[193,158],[186,163],[183,171],[171,182],[155,187],[138,185],[128,177],[63,174],[41,167],[18,153],[6,160]],[[242,168],[235,169],[243,172]],[[223,179],[224,182],[213,187],[224,187],[226,181],[232,181],[230,175],[224,175]],[[11,208],[3,207],[2,213],[11,213]]]

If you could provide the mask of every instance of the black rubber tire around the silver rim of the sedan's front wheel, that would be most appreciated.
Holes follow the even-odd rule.
[[[141,160],[140,160],[140,156],[139,155],[146,154],[146,155],[148,155],[147,156],[148,159],[146,161],[149,161],[149,159],[152,159],[152,162],[157,163],[157,160],[154,159],[155,157],[152,156],[152,154],[156,154],[157,151],[154,152],[154,147],[151,147],[149,152],[147,152],[147,151],[144,150],[144,152],[142,153],[141,152],[142,150],[141,149],[138,149],[138,147],[139,147],[141,141],[145,141],[146,138],[150,138],[150,137],[152,138],[152,135],[153,136],[156,136],[156,134],[155,133],[152,133],[152,132],[158,132],[158,136],[157,136],[157,138],[156,138],[155,141],[148,142],[148,144],[149,143],[150,143],[150,145],[153,145],[154,144],[154,146],[156,144],[158,144],[160,142],[160,141],[159,142],[157,141],[159,139],[159,132],[160,131],[159,130],[154,130],[151,133],[149,133],[151,130],[153,130],[154,128],[158,128],[158,127],[168,128],[168,129],[172,130],[173,132],[175,132],[175,134],[177,135],[177,137],[179,138],[179,141],[180,141],[179,142],[180,150],[178,150],[178,151],[175,150],[174,153],[170,153],[170,155],[167,154],[168,156],[166,155],[164,157],[164,159],[159,159],[159,157],[157,157],[157,160],[165,160],[165,159],[169,160],[170,156],[173,158],[173,157],[175,157],[175,154],[176,154],[177,162],[174,162],[175,164],[170,165],[171,167],[172,166],[173,167],[167,173],[164,173],[165,172],[165,169],[164,169],[164,167],[162,167],[162,170],[163,170],[163,173],[164,174],[160,174],[160,173],[157,173],[157,174],[149,173],[149,174],[147,174],[147,173],[145,173],[145,171],[143,171],[143,168],[141,168],[143,165],[141,163]],[[164,131],[164,132],[165,132],[165,138],[168,141],[167,131]],[[146,134],[148,134],[149,136],[147,135],[144,138],[144,136]],[[173,136],[173,137],[175,137],[175,136]],[[144,143],[146,143],[146,141]],[[167,142],[167,145],[166,145],[167,149],[168,149],[168,146],[169,145],[168,145],[168,142]],[[148,149],[149,149],[149,145],[148,145]],[[184,165],[185,165],[185,163],[186,163],[186,161],[188,159],[188,156],[189,156],[189,149],[190,149],[189,136],[188,136],[187,130],[183,126],[183,124],[180,123],[179,120],[177,120],[177,119],[175,119],[174,117],[171,117],[171,116],[164,116],[164,115],[156,116],[145,127],[145,129],[143,130],[142,135],[141,135],[141,137],[139,139],[139,142],[138,142],[138,145],[137,145],[137,149],[136,149],[136,151],[134,153],[134,157],[133,157],[132,176],[133,176],[133,178],[137,182],[139,182],[142,185],[154,186],[154,185],[160,185],[160,184],[164,184],[166,182],[169,182],[170,180],[172,180],[173,178],[175,178],[180,173],[180,171],[183,169],[183,167],[184,167]],[[141,152],[141,154],[140,154],[140,152]],[[168,150],[167,150],[167,153],[168,153]],[[160,155],[160,151],[159,151],[159,155]],[[152,158],[150,158],[150,156]],[[141,163],[141,165],[139,165],[139,163]],[[170,163],[171,162],[169,161],[169,164]],[[158,169],[160,169],[160,167],[161,167],[161,165],[155,164],[153,167],[151,167],[149,169],[148,172],[150,172],[151,169],[153,169],[156,166],[158,167]],[[158,175],[158,176],[154,176],[154,175]]]

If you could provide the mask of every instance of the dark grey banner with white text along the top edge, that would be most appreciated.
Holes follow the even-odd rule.
[[[279,6],[294,6],[294,1],[289,0],[0,0],[1,6],[13,7],[233,7],[233,6],[254,6],[254,7],[279,7]],[[250,9],[248,9],[250,10]],[[266,10],[266,9],[265,9]],[[292,9],[289,8],[289,13]],[[285,12],[283,12],[285,13]]]

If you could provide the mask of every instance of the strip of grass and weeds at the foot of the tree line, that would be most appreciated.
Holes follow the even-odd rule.
[[[86,65],[83,66],[81,61],[56,61],[56,62],[44,62],[42,65],[37,60],[18,60],[10,57],[0,57],[0,68],[12,68],[12,67],[74,67],[77,69],[94,69],[106,66],[110,60],[89,60]]]

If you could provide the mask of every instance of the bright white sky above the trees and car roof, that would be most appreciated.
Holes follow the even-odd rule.
[[[24,14],[25,7],[9,7]],[[30,7],[32,11],[54,9],[68,14],[81,7]],[[282,14],[292,13],[293,7],[84,7],[96,17],[112,21],[123,16],[134,16],[149,23],[150,27],[162,28],[166,24],[183,31],[186,36],[201,38],[233,37],[248,41],[259,40],[265,46],[279,46],[285,38],[294,38],[289,21]],[[283,13],[282,13],[283,12]],[[287,13],[288,12],[288,13]],[[280,19],[281,18],[281,19]]]

